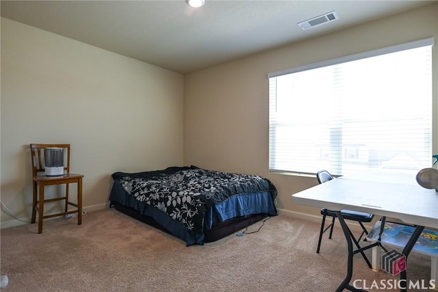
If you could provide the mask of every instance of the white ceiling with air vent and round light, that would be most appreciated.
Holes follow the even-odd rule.
[[[1,1],[1,16],[179,73],[434,1]],[[297,23],[335,10],[339,20]]]

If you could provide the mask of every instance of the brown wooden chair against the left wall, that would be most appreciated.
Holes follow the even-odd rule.
[[[45,175],[44,156],[47,148],[64,149],[64,171],[62,175]],[[46,218],[65,216],[77,213],[77,224],[82,223],[82,178],[83,175],[70,173],[70,144],[31,144],[31,161],[32,175],[34,177],[34,199],[32,202],[32,219],[31,223],[36,221],[36,212],[38,212],[38,234],[42,232],[42,221]],[[65,153],[66,152],[66,153]],[[77,204],[68,201],[68,184],[77,183]],[[44,187],[56,184],[66,184],[65,195],[62,197],[53,197],[44,199]],[[65,200],[64,212],[44,216],[44,204]],[[76,207],[75,210],[68,210],[68,206]]]

